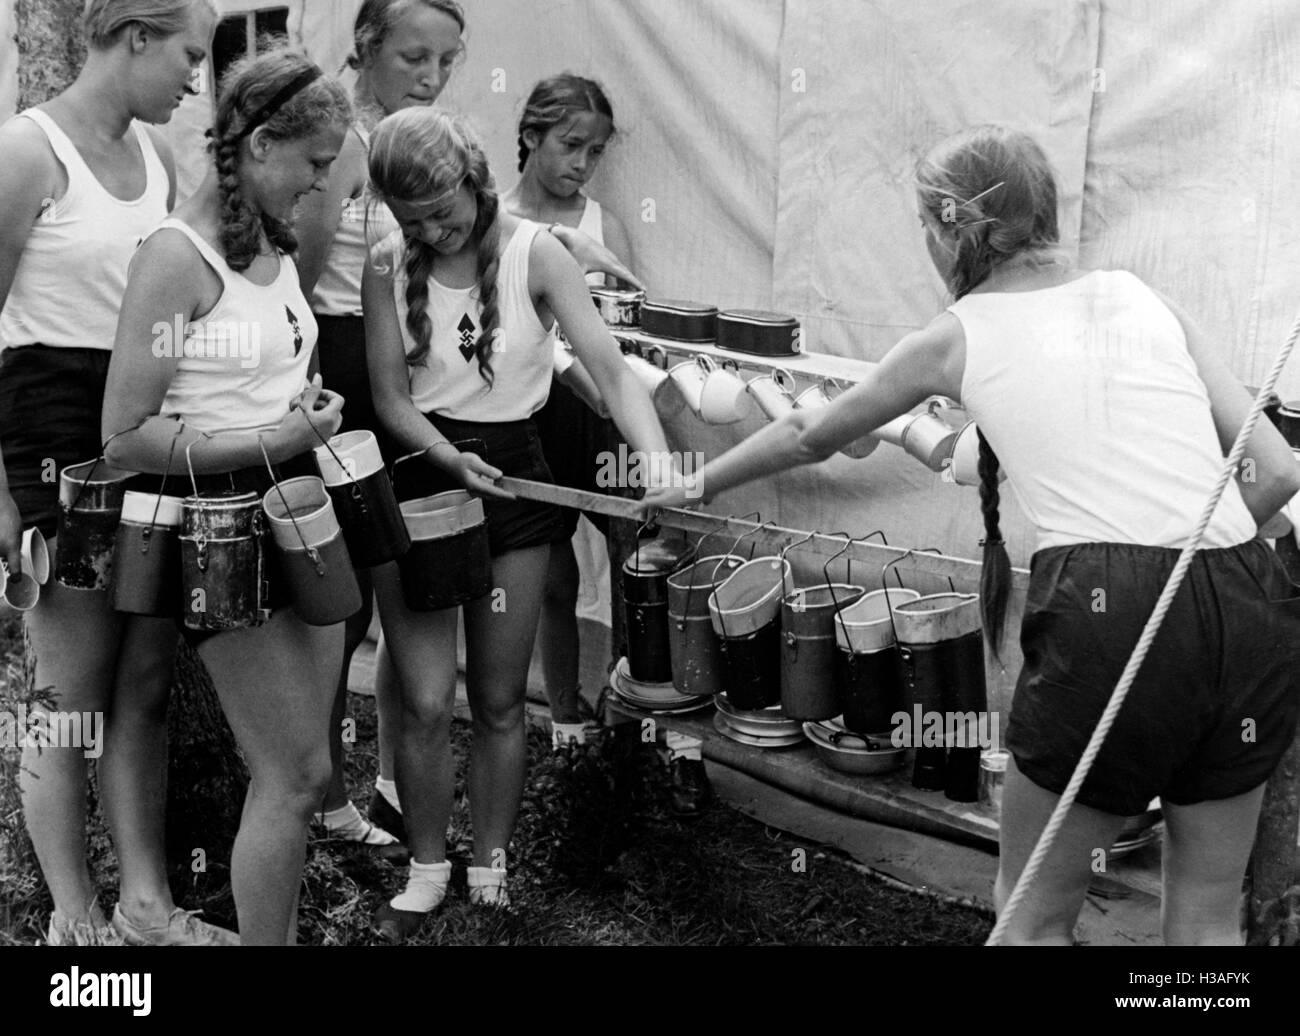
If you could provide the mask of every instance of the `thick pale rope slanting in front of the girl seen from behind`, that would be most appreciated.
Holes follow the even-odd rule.
[[[1083,755],[1079,757],[1079,763],[1075,766],[1074,775],[1070,777],[1070,783],[1061,794],[1061,801],[1057,802],[1056,809],[1052,811],[1052,816],[1048,819],[1046,827],[1043,828],[1037,845],[1034,846],[1034,851],[1030,854],[1030,859],[1024,864],[1024,870],[1020,872],[1020,877],[1017,880],[1015,888],[1011,890],[1011,896],[1002,907],[997,924],[993,926],[993,932],[989,935],[988,941],[984,945],[996,946],[1002,941],[1002,937],[1006,935],[1006,928],[1011,923],[1011,916],[1015,914],[1015,909],[1020,905],[1020,901],[1028,892],[1030,885],[1034,884],[1034,879],[1037,876],[1039,868],[1043,866],[1043,861],[1046,859],[1048,851],[1052,849],[1052,842],[1056,840],[1057,832],[1065,823],[1065,815],[1074,805],[1074,801],[1079,794],[1079,789],[1083,786],[1083,781],[1087,779],[1088,771],[1092,768],[1092,763],[1097,758],[1097,753],[1101,751],[1101,745],[1106,740],[1106,734],[1110,732],[1110,728],[1115,721],[1115,716],[1119,715],[1119,708],[1123,706],[1124,698],[1128,695],[1128,689],[1132,686],[1132,682],[1138,676],[1138,669],[1141,668],[1141,663],[1147,658],[1147,651],[1156,640],[1156,634],[1160,632],[1160,625],[1165,620],[1165,615],[1169,612],[1170,606],[1174,603],[1178,588],[1182,586],[1183,577],[1187,575],[1187,569],[1191,567],[1192,559],[1196,556],[1196,551],[1200,547],[1202,537],[1205,536],[1205,529],[1210,524],[1214,511],[1218,508],[1219,498],[1227,489],[1228,480],[1234,476],[1238,465],[1242,463],[1242,456],[1245,454],[1247,443],[1249,443],[1251,435],[1254,433],[1254,426],[1260,420],[1260,413],[1264,411],[1264,404],[1273,393],[1273,386],[1277,385],[1277,381],[1282,374],[1282,368],[1286,367],[1297,338],[1300,338],[1300,316],[1297,316],[1295,322],[1291,325],[1291,333],[1287,335],[1286,343],[1278,352],[1278,357],[1273,363],[1273,369],[1269,370],[1269,376],[1260,387],[1260,394],[1256,396],[1254,403],[1251,407],[1251,412],[1245,419],[1245,424],[1242,425],[1242,430],[1236,435],[1236,442],[1232,443],[1232,450],[1223,464],[1223,471],[1219,472],[1218,481],[1214,484],[1214,491],[1210,493],[1210,497],[1205,503],[1205,510],[1201,512],[1200,521],[1196,523],[1191,539],[1188,539],[1187,546],[1183,547],[1183,552],[1178,556],[1178,563],[1174,565],[1174,571],[1170,573],[1169,581],[1165,584],[1165,589],[1161,591],[1160,599],[1156,602],[1156,607],[1152,611],[1150,617],[1147,620],[1147,627],[1143,629],[1141,637],[1138,640],[1138,646],[1134,647],[1134,653],[1128,658],[1128,664],[1124,667],[1123,675],[1119,677],[1119,682],[1115,685],[1114,693],[1110,695],[1110,701],[1106,703],[1106,708],[1101,714],[1097,729],[1092,732],[1092,738],[1088,741],[1088,746],[1083,750]]]

